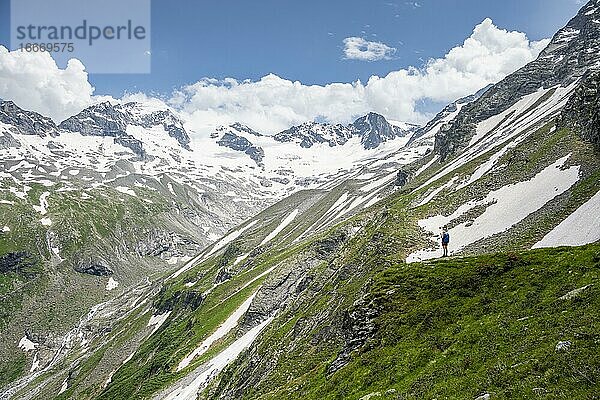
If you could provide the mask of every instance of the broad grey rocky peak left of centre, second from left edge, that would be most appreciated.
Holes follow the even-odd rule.
[[[129,125],[150,129],[162,126],[179,145],[190,150],[190,138],[183,122],[170,110],[146,112],[138,103],[113,105],[110,102],[95,104],[59,125],[60,129],[77,132],[84,136],[114,137],[115,143],[131,149],[141,159],[146,158],[142,141],[127,133]]]

